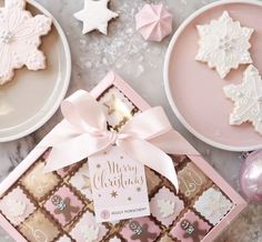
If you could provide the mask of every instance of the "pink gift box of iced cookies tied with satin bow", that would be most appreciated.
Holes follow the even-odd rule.
[[[150,105],[118,74],[110,72],[91,94],[95,102],[89,95],[80,100],[81,95],[73,94],[72,99],[80,110],[92,103],[91,114],[102,109],[105,120],[101,113],[95,119],[90,110],[78,113],[72,102],[64,103],[68,120],[1,183],[0,224],[16,241],[208,242],[245,208],[245,201],[183,138],[168,140],[170,169],[162,162],[163,145],[155,137],[150,137],[150,144],[131,137],[137,124],[145,137],[157,122],[149,119]],[[162,115],[159,109],[154,112]],[[143,113],[147,120],[141,118]],[[77,119],[84,115],[94,127],[98,120],[107,123],[112,145],[103,143],[97,129]],[[71,131],[69,121],[78,129]],[[95,140],[82,130],[92,132]],[[87,155],[94,147],[95,155]],[[140,163],[133,153],[158,157],[154,162]]]

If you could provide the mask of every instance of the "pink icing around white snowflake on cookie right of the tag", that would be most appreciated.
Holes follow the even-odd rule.
[[[174,202],[173,214],[170,216],[163,218],[158,205],[159,200],[167,200]],[[167,188],[161,188],[159,192],[154,195],[154,198],[150,202],[150,211],[153,216],[155,216],[162,224],[169,226],[180,214],[180,212],[184,209],[183,201],[181,201],[178,196],[175,196],[172,192],[170,192]]]

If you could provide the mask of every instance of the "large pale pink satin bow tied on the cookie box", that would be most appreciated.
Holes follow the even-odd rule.
[[[161,107],[134,115],[120,132],[107,129],[107,115],[101,103],[85,91],[77,91],[64,100],[61,110],[66,121],[46,140],[52,147],[47,172],[77,163],[115,144],[132,159],[169,179],[178,189],[174,165],[167,153],[198,154],[172,129]]]

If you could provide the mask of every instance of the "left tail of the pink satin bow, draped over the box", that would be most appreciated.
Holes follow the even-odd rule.
[[[108,139],[97,139],[81,134],[67,142],[54,145],[47,159],[44,172],[52,172],[72,165],[83,159],[104,150],[110,142]]]

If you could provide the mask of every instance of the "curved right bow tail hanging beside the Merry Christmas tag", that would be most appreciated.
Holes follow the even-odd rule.
[[[179,191],[178,175],[172,159],[155,145],[140,139],[129,138],[119,147],[132,159],[165,177]]]

